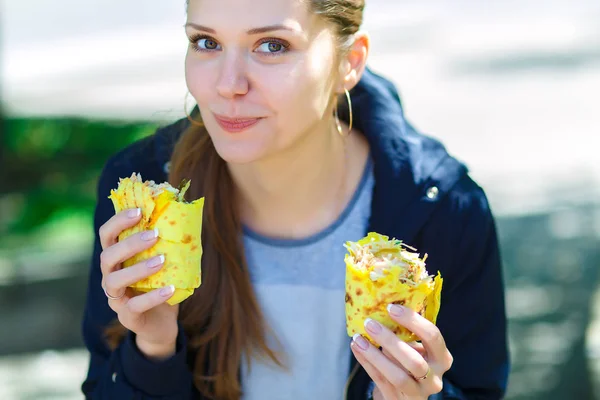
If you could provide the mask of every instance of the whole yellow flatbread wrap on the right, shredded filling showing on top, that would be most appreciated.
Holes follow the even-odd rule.
[[[346,242],[346,328],[349,336],[367,333],[364,321],[374,319],[405,342],[420,340],[389,315],[390,303],[415,310],[435,324],[443,279],[428,275],[424,257],[399,240],[371,232],[358,242]],[[416,250],[415,250],[416,251]]]

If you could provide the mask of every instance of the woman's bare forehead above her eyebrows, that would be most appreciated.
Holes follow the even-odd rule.
[[[248,30],[285,24],[310,31],[323,28],[320,18],[310,12],[309,0],[189,0],[187,21],[228,30]]]

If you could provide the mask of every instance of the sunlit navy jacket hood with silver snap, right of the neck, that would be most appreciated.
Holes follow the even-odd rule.
[[[372,213],[371,229],[410,240],[467,168],[413,128],[389,80],[367,69],[350,97],[375,161],[373,209],[385,210]]]

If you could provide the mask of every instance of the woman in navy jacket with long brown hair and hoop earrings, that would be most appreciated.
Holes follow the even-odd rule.
[[[404,120],[393,86],[366,69],[363,8],[189,1],[185,71],[198,108],[115,155],[100,177],[86,397],[502,397],[506,324],[488,203],[462,164]],[[117,242],[139,213],[113,216],[106,197],[132,172],[191,178],[189,197],[206,197],[203,282],[180,307],[165,303],[169,288],[127,288],[162,266],[120,268],[156,242],[154,232]],[[420,343],[373,322],[382,350],[346,335],[342,244],[368,231],[429,253],[444,276],[439,329],[389,310]]]

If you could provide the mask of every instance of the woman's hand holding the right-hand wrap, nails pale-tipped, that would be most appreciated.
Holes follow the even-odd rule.
[[[368,319],[365,328],[383,349],[355,336],[354,356],[376,384],[374,400],[426,399],[442,390],[442,376],[452,366],[452,355],[440,330],[418,313],[390,305],[390,316],[415,335],[421,343],[406,343],[379,324]]]

